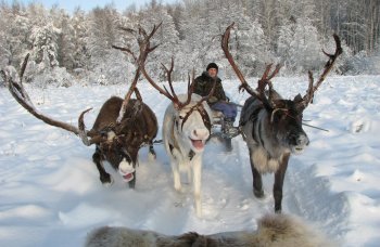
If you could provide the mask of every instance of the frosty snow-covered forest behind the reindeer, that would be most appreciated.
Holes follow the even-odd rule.
[[[25,81],[36,86],[125,83],[134,75],[132,57],[112,46],[137,49],[138,27],[163,23],[153,40],[160,46],[147,62],[159,81],[172,57],[175,80],[187,80],[193,69],[202,73],[210,62],[219,65],[223,79],[232,78],[220,35],[235,22],[230,47],[248,77],[261,75],[268,63],[280,63],[282,76],[319,70],[322,49],[333,48],[332,34],[344,50],[337,74],[379,74],[379,0],[152,0],[141,8],[110,3],[73,13],[0,1],[0,67],[17,69],[30,53]]]

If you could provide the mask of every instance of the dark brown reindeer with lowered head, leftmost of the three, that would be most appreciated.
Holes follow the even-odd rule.
[[[144,39],[139,39],[143,46],[149,42],[150,38],[157,30],[154,26],[152,32]],[[154,48],[153,48],[154,49]],[[121,173],[125,182],[128,182],[129,187],[135,187],[136,184],[136,164],[138,152],[141,146],[149,144],[150,154],[155,157],[153,150],[153,140],[157,133],[157,119],[151,108],[145,105],[136,88],[137,81],[141,72],[141,64],[147,58],[145,53],[140,53],[136,58],[137,69],[134,81],[125,96],[121,99],[112,96],[101,107],[98,117],[89,131],[85,130],[84,115],[90,110],[83,112],[78,118],[78,127],[66,122],[55,120],[35,108],[29,95],[25,91],[22,79],[26,68],[28,55],[25,57],[21,68],[20,81],[14,81],[5,72],[1,70],[4,81],[9,86],[9,90],[13,98],[31,115],[42,120],[43,122],[62,128],[69,132],[79,135],[85,145],[96,144],[96,152],[92,155],[92,160],[97,165],[100,173],[100,181],[103,184],[111,184],[112,177],[105,171],[103,161],[109,161],[112,167]],[[132,93],[136,93],[137,100],[130,99]]]

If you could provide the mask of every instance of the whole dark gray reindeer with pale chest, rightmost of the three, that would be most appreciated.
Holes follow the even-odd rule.
[[[228,40],[233,23],[227,27],[221,37],[221,49],[241,81],[240,89],[246,90],[249,98],[241,110],[240,128],[250,152],[253,176],[253,193],[263,197],[262,174],[275,173],[274,198],[275,211],[281,212],[282,185],[290,154],[300,154],[308,145],[309,140],[302,129],[303,110],[312,102],[314,92],[331,70],[337,57],[342,53],[340,39],[333,35],[337,48],[329,56],[325,70],[318,81],[314,83],[313,74],[308,73],[308,89],[304,96],[297,94],[293,100],[283,100],[273,88],[270,79],[279,72],[280,66],[269,75],[271,65],[268,65],[257,89],[252,89],[233,61],[228,50]],[[268,88],[268,90],[266,90]]]

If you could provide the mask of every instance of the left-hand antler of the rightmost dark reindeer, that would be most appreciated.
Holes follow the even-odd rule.
[[[231,31],[233,25],[235,25],[235,23],[229,25],[226,28],[225,34],[221,36],[221,49],[225,52],[225,55],[226,55],[229,64],[232,66],[233,72],[237,74],[239,80],[241,81],[241,86],[239,87],[239,90],[242,88],[245,89],[246,92],[250,93],[252,96],[255,96],[259,101],[262,101],[266,107],[274,108],[274,103],[270,100],[270,95],[271,95],[270,91],[273,90],[273,84],[270,82],[270,79],[274,78],[278,74],[278,72],[280,70],[280,65],[276,66],[275,70],[270,74],[270,76],[268,76],[268,75],[269,75],[269,72],[271,68],[271,64],[267,65],[265,72],[262,76],[262,79],[259,79],[257,81],[257,89],[256,90],[252,89],[249,86],[249,83],[246,82],[246,80],[244,79],[244,76],[241,73],[241,70],[239,69],[238,65],[235,63],[235,60],[233,60],[233,57],[228,49],[228,41],[229,41],[229,37],[230,37],[230,31]],[[269,98],[267,98],[265,95],[266,86],[269,87]]]

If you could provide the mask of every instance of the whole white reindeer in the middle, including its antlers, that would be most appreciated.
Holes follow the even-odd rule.
[[[143,28],[140,27],[139,32],[147,40],[147,42],[139,42],[140,53],[147,57],[156,47],[150,47],[149,40],[152,36],[148,36]],[[123,50],[132,54],[129,49]],[[212,112],[206,100],[213,94],[215,82],[210,94],[202,98],[192,93],[194,83],[190,83],[191,79],[189,76],[187,94],[177,95],[172,81],[174,58],[172,58],[170,68],[167,68],[165,65],[163,65],[163,68],[167,76],[170,92],[165,87],[162,89],[157,86],[147,73],[144,63],[141,63],[141,73],[148,82],[172,101],[165,112],[162,132],[165,151],[170,158],[174,187],[176,191],[181,191],[180,176],[181,172],[187,172],[189,181],[193,183],[197,216],[201,217],[202,154],[212,127]],[[193,79],[194,70],[192,73],[192,82]]]

